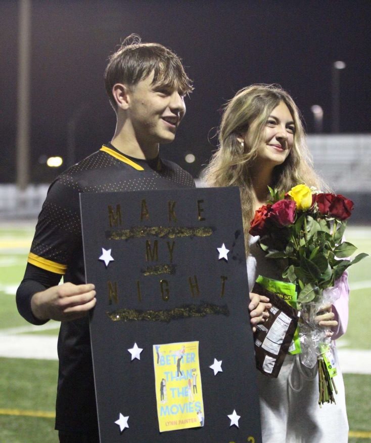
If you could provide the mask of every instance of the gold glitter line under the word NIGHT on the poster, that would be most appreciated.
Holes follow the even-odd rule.
[[[227,305],[214,305],[201,302],[199,305],[183,305],[178,308],[165,310],[141,310],[141,309],[119,309],[106,312],[112,321],[163,321],[169,323],[171,320],[189,317],[205,317],[206,315],[229,315]]]

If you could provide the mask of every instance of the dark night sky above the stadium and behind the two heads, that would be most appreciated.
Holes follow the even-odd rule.
[[[0,1],[2,110],[0,182],[15,180],[18,2]],[[197,176],[216,145],[220,108],[241,88],[278,83],[294,97],[313,132],[310,107],[331,130],[331,69],[342,60],[342,133],[371,132],[371,2],[342,1],[32,1],[31,179],[60,171],[39,163],[66,154],[67,125],[80,109],[76,160],[114,133],[105,93],[107,57],[130,33],[158,42],[183,60],[195,91],[175,142],[162,155]],[[196,155],[194,164],[184,153]],[[62,166],[60,170],[64,169]]]

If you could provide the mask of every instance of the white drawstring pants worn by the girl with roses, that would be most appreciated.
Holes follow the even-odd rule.
[[[336,349],[334,356],[338,362]],[[347,443],[343,376],[337,365],[336,405],[318,405],[318,374],[287,355],[279,376],[258,373],[263,443]]]

